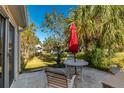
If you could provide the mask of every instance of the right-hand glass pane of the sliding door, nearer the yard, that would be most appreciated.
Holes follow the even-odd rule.
[[[9,85],[14,79],[14,27],[9,24]]]

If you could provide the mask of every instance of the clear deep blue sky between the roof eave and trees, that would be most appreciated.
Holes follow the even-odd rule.
[[[36,26],[40,26],[41,23],[44,21],[44,17],[46,12],[51,13],[54,9],[57,10],[57,12],[61,12],[64,14],[64,16],[67,16],[68,10],[71,8],[74,8],[76,6],[74,5],[28,5],[27,6],[27,12],[29,17],[29,22],[33,22],[36,24]],[[36,36],[40,39],[40,41],[43,41],[48,34],[41,32],[40,29],[37,29]]]

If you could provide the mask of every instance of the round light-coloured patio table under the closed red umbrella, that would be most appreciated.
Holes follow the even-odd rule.
[[[72,75],[75,74],[75,68],[76,68],[76,74],[78,76],[78,80],[80,83],[83,83],[83,67],[88,65],[88,62],[85,60],[65,60],[64,64],[66,66],[67,70],[67,76],[68,78],[71,78]],[[80,86],[81,87],[81,86]]]

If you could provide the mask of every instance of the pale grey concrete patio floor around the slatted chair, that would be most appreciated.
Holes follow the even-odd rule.
[[[112,76],[112,74],[90,67],[83,68],[83,88],[102,88],[101,81]],[[12,88],[44,88],[46,86],[44,71],[20,74],[13,83]]]

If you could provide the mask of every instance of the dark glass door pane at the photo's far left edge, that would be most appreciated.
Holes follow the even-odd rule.
[[[5,19],[0,15],[0,88],[3,87],[4,32],[5,32]]]

